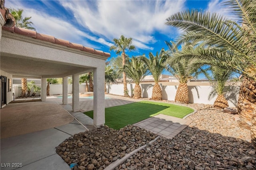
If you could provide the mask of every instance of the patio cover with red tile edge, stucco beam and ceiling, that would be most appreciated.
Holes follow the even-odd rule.
[[[60,78],[83,74],[93,71],[110,57],[109,53],[36,31],[3,28],[6,31],[2,31],[0,66],[13,78]]]

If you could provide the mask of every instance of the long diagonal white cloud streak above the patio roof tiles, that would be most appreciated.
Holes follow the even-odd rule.
[[[7,6],[8,5],[8,6]],[[59,39],[65,39],[72,43],[80,43],[84,46],[98,49],[98,47],[86,39],[98,42],[104,45],[112,45],[112,43],[105,41],[102,38],[98,38],[83,31],[77,29],[72,23],[62,20],[62,18],[56,18],[45,14],[36,9],[27,8],[23,6],[19,1],[10,1],[10,4],[6,4],[7,8],[22,8],[24,9],[23,16],[32,16],[30,21],[34,23],[33,27],[36,28],[38,33],[44,33],[52,35]],[[86,38],[86,39],[85,39]]]

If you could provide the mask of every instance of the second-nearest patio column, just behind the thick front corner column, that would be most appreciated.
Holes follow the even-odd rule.
[[[79,111],[79,74],[72,75],[72,110]]]

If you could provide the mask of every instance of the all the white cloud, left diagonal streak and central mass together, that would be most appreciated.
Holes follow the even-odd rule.
[[[120,35],[132,37],[137,49],[153,50],[154,43],[160,41],[154,33],[177,35],[176,28],[164,25],[166,18],[183,10],[184,0],[99,0],[99,1],[62,1],[59,3],[74,18],[64,20],[62,16],[54,17],[43,9],[31,9],[22,1],[6,1],[7,8],[23,8],[23,16],[32,16],[36,31],[70,42],[81,43],[85,46],[98,48],[90,43],[94,41],[111,46],[112,39]],[[54,6],[44,2],[52,10]],[[74,21],[89,31],[80,31]],[[90,40],[90,41],[89,41]],[[162,40],[161,40],[162,41]]]

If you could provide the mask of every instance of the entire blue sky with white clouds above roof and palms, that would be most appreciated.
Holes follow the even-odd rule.
[[[132,56],[156,54],[168,49],[164,41],[174,41],[180,33],[165,25],[166,18],[183,10],[197,8],[229,13],[221,0],[6,0],[6,8],[22,8],[23,17],[32,18],[38,33],[52,35],[110,53],[113,39],[131,37],[136,51]],[[164,73],[168,74],[168,73]]]

